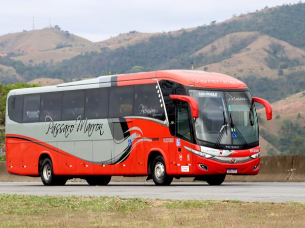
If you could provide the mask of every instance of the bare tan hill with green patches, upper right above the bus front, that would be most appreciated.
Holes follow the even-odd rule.
[[[249,41],[253,42],[250,43]],[[198,69],[222,72],[235,77],[257,75],[267,78],[278,78],[281,74],[279,69],[283,70],[283,74],[305,69],[304,50],[257,32],[239,32],[226,35],[200,50],[199,54],[207,56],[210,56],[210,53],[224,55],[224,52],[232,49],[234,44],[241,42],[249,42],[250,44],[234,53],[230,58],[198,67]],[[212,52],[212,47],[219,48]],[[196,55],[198,55],[198,52],[196,52]]]

